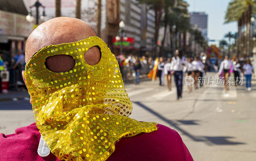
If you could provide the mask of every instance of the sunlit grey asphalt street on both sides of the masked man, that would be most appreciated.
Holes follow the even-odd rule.
[[[172,91],[159,86],[158,80],[142,81],[137,86],[126,84],[133,103],[131,117],[178,131],[196,161],[255,160],[255,81],[252,91],[245,91],[242,85],[230,86],[225,93],[223,86],[205,85],[188,94],[183,87],[183,98],[177,101],[173,78]],[[16,128],[35,122],[32,107],[24,98],[0,101],[0,133],[11,134]]]

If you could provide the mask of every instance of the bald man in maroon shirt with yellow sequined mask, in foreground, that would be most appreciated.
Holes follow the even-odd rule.
[[[40,24],[25,60],[36,123],[0,134],[0,160],[193,160],[176,131],[128,117],[132,103],[117,60],[84,21]]]

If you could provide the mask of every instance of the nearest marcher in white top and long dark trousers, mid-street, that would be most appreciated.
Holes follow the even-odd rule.
[[[183,67],[185,64],[185,60],[182,59],[182,51],[176,50],[175,56],[172,57],[171,70],[174,71],[174,80],[177,88],[177,100],[182,98]]]

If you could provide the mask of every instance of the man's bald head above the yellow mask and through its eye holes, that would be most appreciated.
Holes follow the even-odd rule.
[[[25,61],[41,48],[49,45],[70,43],[97,36],[93,28],[86,22],[72,17],[52,18],[33,30],[28,36],[25,49]],[[100,61],[100,51],[92,47],[84,53],[84,59],[89,65]],[[54,55],[46,60],[48,69],[53,72],[66,72],[75,66],[75,60],[69,55]]]

